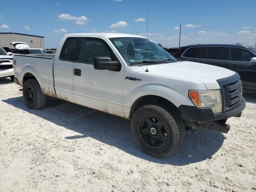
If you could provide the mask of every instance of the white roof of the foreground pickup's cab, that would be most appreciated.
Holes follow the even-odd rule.
[[[134,34],[126,34],[126,33],[73,33],[66,34],[65,36],[105,36],[107,38],[115,38],[115,37],[138,37],[138,38],[146,38],[140,35]]]

